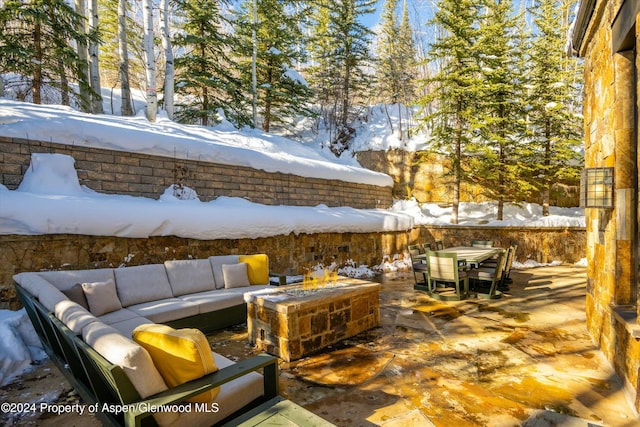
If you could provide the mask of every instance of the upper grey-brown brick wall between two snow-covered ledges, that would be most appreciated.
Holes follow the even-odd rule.
[[[0,184],[18,187],[31,153],[72,156],[80,184],[103,193],[157,199],[172,184],[193,188],[202,201],[218,196],[291,206],[387,208],[392,188],[338,180],[270,173],[243,166],[87,148],[0,136]]]

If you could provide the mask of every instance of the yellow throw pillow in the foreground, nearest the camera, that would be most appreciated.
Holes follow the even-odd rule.
[[[135,342],[144,347],[170,388],[218,370],[207,337],[198,329],[173,329],[167,325],[145,324],[132,332]],[[188,399],[211,402],[220,388]]]

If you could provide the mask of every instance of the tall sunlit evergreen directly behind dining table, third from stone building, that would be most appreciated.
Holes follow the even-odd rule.
[[[423,110],[433,109],[424,119],[431,130],[432,147],[449,162],[454,224],[458,223],[461,184],[470,180],[469,156],[474,149],[472,125],[481,87],[476,55],[480,6],[479,0],[438,2],[432,23],[441,28],[442,36],[431,45],[429,56],[440,69],[426,81],[432,92],[419,101]]]

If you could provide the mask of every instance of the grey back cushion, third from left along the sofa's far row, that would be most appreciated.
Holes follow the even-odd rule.
[[[164,267],[167,269],[174,296],[216,289],[213,270],[208,259],[165,261]]]

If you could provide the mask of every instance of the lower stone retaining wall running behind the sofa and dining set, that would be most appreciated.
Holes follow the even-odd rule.
[[[533,229],[417,227],[388,233],[289,234],[259,239],[195,240],[179,237],[133,239],[106,236],[0,236],[0,309],[18,308],[13,275],[23,271],[119,267],[210,255],[266,253],[271,270],[303,274],[322,263],[344,266],[349,260],[370,267],[403,254],[408,244],[443,240],[447,246],[492,239],[496,246],[518,244],[517,259],[574,263],[585,256],[581,228]]]

